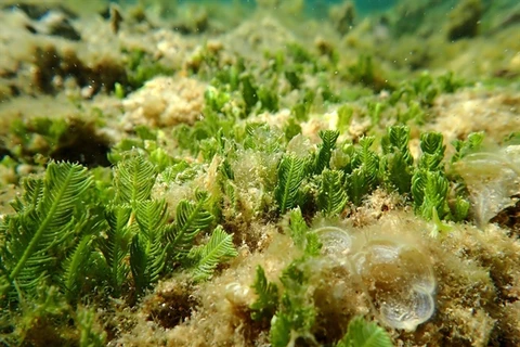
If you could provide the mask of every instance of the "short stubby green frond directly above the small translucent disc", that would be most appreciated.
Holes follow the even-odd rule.
[[[324,169],[317,191],[317,207],[325,216],[339,214],[347,204],[348,197],[343,188],[343,172]]]

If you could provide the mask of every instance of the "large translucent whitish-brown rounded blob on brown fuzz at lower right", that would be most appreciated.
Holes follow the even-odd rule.
[[[428,258],[415,247],[375,240],[353,261],[373,306],[390,326],[413,331],[433,314],[435,279]]]

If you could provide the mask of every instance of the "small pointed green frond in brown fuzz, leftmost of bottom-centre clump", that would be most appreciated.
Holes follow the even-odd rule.
[[[265,271],[261,266],[257,267],[257,277],[251,287],[257,293],[257,299],[249,306],[252,320],[270,321],[278,306],[280,294],[276,284],[265,278]]]

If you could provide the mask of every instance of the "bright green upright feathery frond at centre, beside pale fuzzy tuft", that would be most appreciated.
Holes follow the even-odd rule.
[[[296,206],[298,189],[306,175],[306,160],[285,155],[278,165],[278,181],[274,191],[281,214]]]

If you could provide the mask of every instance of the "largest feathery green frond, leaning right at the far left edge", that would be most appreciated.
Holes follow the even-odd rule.
[[[92,184],[80,165],[51,162],[43,179],[24,183],[25,194],[14,203],[16,215],[5,217],[3,267],[11,283],[34,290],[53,266],[51,249],[72,236],[74,217]]]

